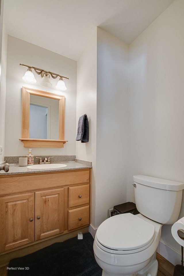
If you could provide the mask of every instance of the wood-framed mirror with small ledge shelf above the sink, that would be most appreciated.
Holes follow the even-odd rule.
[[[63,148],[65,97],[22,87],[24,147]]]

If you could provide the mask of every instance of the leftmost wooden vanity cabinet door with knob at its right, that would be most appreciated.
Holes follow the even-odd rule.
[[[34,193],[0,198],[0,252],[34,241]]]

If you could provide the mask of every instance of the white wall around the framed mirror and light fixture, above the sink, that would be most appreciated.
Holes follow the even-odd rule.
[[[41,86],[40,75],[34,73],[37,83],[30,85],[22,80],[26,68],[20,63],[44,69],[69,78],[65,80],[67,90],[54,87],[59,79],[51,79],[52,88]],[[22,86],[64,95],[65,98],[65,140],[64,148],[33,148],[34,155],[75,155],[76,136],[76,61],[38,47],[26,41],[8,36],[7,46],[7,90],[5,156],[26,155],[21,138]]]

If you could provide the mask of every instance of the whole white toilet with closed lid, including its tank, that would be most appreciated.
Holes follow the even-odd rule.
[[[138,215],[112,216],[98,227],[93,243],[102,276],[156,276],[156,249],[163,224],[177,221],[184,183],[133,176]]]

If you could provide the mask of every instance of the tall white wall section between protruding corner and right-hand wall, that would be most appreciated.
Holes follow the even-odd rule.
[[[97,28],[96,227],[127,198],[127,93],[128,45]]]

